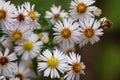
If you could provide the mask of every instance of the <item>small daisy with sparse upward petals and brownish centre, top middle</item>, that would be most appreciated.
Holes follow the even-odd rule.
[[[51,23],[55,24],[56,21],[58,21],[60,18],[67,17],[68,14],[64,10],[61,10],[61,6],[55,6],[53,5],[51,7],[51,12],[46,11],[45,18],[50,19]]]

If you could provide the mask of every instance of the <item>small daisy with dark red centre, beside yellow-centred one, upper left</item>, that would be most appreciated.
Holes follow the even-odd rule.
[[[24,7],[18,6],[18,10],[15,12],[16,20],[17,22],[23,22],[28,23],[31,21],[31,19],[27,16],[27,11],[24,9]]]

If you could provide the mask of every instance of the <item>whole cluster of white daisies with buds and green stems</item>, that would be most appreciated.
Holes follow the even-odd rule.
[[[53,5],[41,15],[30,2],[0,0],[0,80],[79,80],[85,65],[75,46],[93,45],[112,25],[94,3],[73,0],[68,12]]]

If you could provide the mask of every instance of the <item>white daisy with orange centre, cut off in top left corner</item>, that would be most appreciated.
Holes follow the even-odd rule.
[[[0,24],[2,27],[7,27],[15,21],[15,11],[16,8],[10,1],[0,0]]]

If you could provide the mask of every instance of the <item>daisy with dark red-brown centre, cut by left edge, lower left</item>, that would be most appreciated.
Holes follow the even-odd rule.
[[[6,75],[6,73],[10,73],[12,72],[15,63],[13,63],[13,61],[17,60],[16,54],[13,53],[9,53],[9,49],[5,49],[5,52],[2,53],[0,51],[0,74],[2,75]]]

